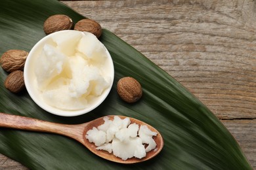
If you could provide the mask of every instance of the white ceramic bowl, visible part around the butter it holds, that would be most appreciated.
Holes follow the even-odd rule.
[[[56,33],[51,33],[50,35],[47,35],[46,37],[41,39],[39,42],[37,42],[35,46],[33,46],[30,53],[28,54],[28,58],[26,59],[26,63],[24,66],[24,80],[25,80],[26,89],[28,90],[30,97],[32,97],[33,101],[37,105],[39,105],[39,107],[46,110],[47,112],[56,114],[58,116],[78,116],[95,109],[96,107],[98,107],[98,105],[100,105],[104,101],[104,99],[106,99],[106,97],[108,96],[108,93],[110,93],[110,90],[114,82],[114,64],[110,56],[110,53],[104,47],[106,49],[106,54],[108,56],[108,58],[106,59],[106,62],[107,62],[106,64],[108,65],[108,69],[104,71],[105,72],[104,74],[107,74],[110,77],[111,84],[110,86],[108,86],[107,89],[104,90],[104,92],[99,97],[97,97],[95,101],[93,101],[93,103],[91,103],[91,105],[87,105],[87,107],[82,110],[62,110],[62,109],[53,107],[51,105],[47,105],[47,103],[45,103],[41,95],[41,92],[37,86],[37,78],[35,76],[36,58],[40,54],[41,50],[43,49],[44,44],[48,43],[51,37],[55,35],[61,36],[63,34],[69,33],[69,31],[74,31],[74,30],[58,31]]]

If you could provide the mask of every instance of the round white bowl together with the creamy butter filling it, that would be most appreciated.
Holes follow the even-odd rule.
[[[78,116],[106,99],[114,81],[114,65],[104,44],[92,33],[58,31],[33,46],[24,80],[39,107],[59,116]]]

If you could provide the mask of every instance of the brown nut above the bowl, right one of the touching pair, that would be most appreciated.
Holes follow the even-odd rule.
[[[86,31],[93,33],[97,38],[99,38],[102,33],[100,24],[98,24],[98,22],[96,22],[95,20],[90,19],[79,20],[79,22],[75,24],[74,29],[77,31]]]

